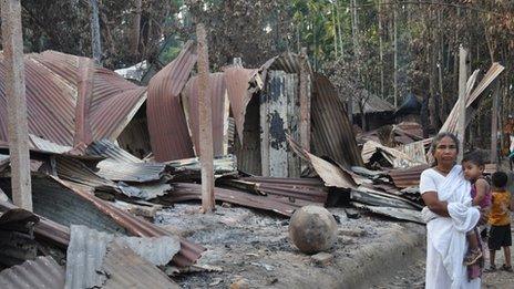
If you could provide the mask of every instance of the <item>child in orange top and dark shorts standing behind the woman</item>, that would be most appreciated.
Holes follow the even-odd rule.
[[[505,256],[505,264],[502,266],[502,270],[512,272],[511,265],[511,213],[514,210],[514,200],[511,198],[511,194],[505,189],[507,184],[507,175],[503,172],[496,172],[492,176],[493,184],[493,206],[489,223],[491,224],[491,233],[489,237],[489,248],[491,252],[491,267],[487,271],[495,271],[496,264],[494,262],[496,250],[503,247],[503,254]]]

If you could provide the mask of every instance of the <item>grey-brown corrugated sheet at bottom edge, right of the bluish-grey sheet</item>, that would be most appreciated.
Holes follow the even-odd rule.
[[[128,246],[121,241],[113,241],[107,247],[101,270],[109,278],[102,288],[181,288],[166,273],[148,261],[140,258]]]

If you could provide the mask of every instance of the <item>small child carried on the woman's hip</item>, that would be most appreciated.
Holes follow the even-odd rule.
[[[479,152],[466,154],[462,159],[462,168],[465,179],[471,182],[471,197],[473,206],[480,206],[482,214],[487,214],[491,209],[491,187],[484,179],[484,161]],[[479,245],[476,228],[466,234],[470,249],[464,258],[464,264],[470,266],[482,258],[482,250]]]

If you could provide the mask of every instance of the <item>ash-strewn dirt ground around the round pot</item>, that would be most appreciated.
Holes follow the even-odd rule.
[[[419,237],[424,231],[421,225],[366,214],[349,219],[343,208],[333,208],[330,211],[340,220],[338,240],[330,250],[333,260],[319,266],[289,242],[287,218],[240,207],[217,206],[210,216],[197,210],[197,204],[179,204],[158,211],[155,218],[156,224],[208,249],[198,264],[210,271],[173,277],[183,288],[227,288],[233,282],[243,285],[245,283],[249,288],[341,288],[345,281],[350,282],[343,279],[350,277],[371,285],[389,270],[390,266],[379,262],[379,256],[388,255],[388,246],[411,241],[414,247],[412,236],[424,240]],[[373,276],[360,275],[367,265],[376,267]]]

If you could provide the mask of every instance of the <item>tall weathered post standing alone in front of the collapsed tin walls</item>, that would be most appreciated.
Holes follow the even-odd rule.
[[[202,210],[215,209],[214,202],[214,147],[213,118],[210,99],[208,97],[208,47],[207,33],[203,23],[196,25],[198,41],[198,124],[199,124],[199,162],[202,165]]]

